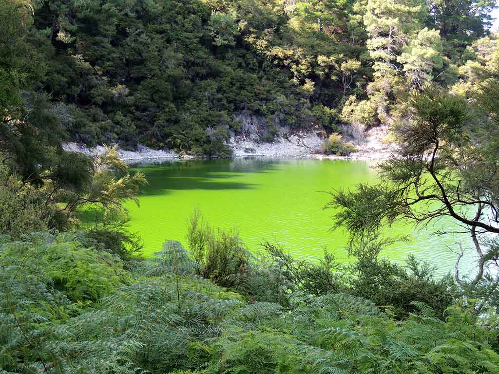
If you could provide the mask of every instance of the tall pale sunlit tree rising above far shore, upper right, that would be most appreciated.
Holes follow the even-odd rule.
[[[423,28],[428,8],[421,1],[370,0],[365,7],[364,24],[369,39],[366,46],[373,59],[373,81],[367,85],[369,103],[356,100],[344,107],[344,118],[361,119],[352,106],[375,109],[377,118],[367,123],[393,121],[393,104],[413,88],[421,89],[432,79],[432,69],[442,67],[439,35]],[[402,80],[405,72],[407,86]],[[369,111],[371,112],[371,111]]]

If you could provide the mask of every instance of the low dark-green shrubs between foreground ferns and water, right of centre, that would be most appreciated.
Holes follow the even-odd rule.
[[[338,262],[327,250],[317,262],[297,260],[281,246],[264,243],[267,258],[250,264],[238,276],[234,288],[248,300],[272,301],[286,306],[293,292],[326,295],[345,292],[372,300],[396,319],[417,310],[413,302],[430,306],[439,318],[460,296],[451,277],[434,277],[435,268],[409,256],[406,266],[380,258],[381,250],[393,243],[377,234],[354,241],[351,263]]]

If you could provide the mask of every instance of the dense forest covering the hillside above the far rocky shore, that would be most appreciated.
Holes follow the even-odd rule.
[[[226,156],[245,116],[263,141],[365,129],[408,91],[469,98],[497,69],[492,0],[1,1],[2,107],[43,95],[87,145]]]

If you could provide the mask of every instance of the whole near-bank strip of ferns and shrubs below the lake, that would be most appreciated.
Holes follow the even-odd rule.
[[[498,370],[497,315],[428,264],[380,259],[386,239],[352,246],[349,265],[272,243],[255,258],[201,220],[190,250],[167,241],[145,260],[83,231],[3,237],[2,373]]]

